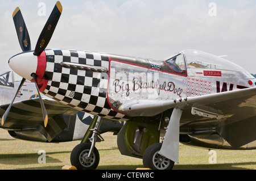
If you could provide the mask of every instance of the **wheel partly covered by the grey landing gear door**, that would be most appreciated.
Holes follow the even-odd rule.
[[[174,161],[158,154],[162,144],[156,143],[148,146],[143,154],[143,165],[152,170],[171,170],[174,167]]]

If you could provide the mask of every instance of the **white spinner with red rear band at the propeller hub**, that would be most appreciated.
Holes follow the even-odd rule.
[[[33,52],[24,52],[16,54],[9,60],[10,68],[18,75],[31,81],[32,73],[43,78],[46,69],[46,54],[43,52],[40,56],[35,56]]]

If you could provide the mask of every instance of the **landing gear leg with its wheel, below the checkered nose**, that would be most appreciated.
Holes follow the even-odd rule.
[[[100,154],[95,148],[96,137],[100,136],[99,129],[102,117],[94,116],[88,131],[81,143],[71,152],[71,164],[79,170],[94,170],[100,162]],[[93,129],[92,129],[93,128]],[[101,136],[100,136],[101,137]],[[102,138],[102,137],[101,137]]]

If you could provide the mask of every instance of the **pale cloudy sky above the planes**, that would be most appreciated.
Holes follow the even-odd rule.
[[[63,13],[48,49],[91,50],[155,60],[197,49],[227,55],[227,60],[256,74],[256,1],[60,2]],[[10,70],[7,61],[22,52],[12,18],[15,8],[19,6],[23,14],[34,49],[55,3],[0,0],[0,73]]]

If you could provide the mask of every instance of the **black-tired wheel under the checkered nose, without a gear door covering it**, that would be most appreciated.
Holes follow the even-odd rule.
[[[77,170],[94,170],[97,168],[100,162],[100,154],[97,148],[94,147],[89,160],[86,160],[86,156],[89,154],[90,146],[88,142],[83,142],[76,145],[71,152],[70,161],[71,165],[75,166]]]

